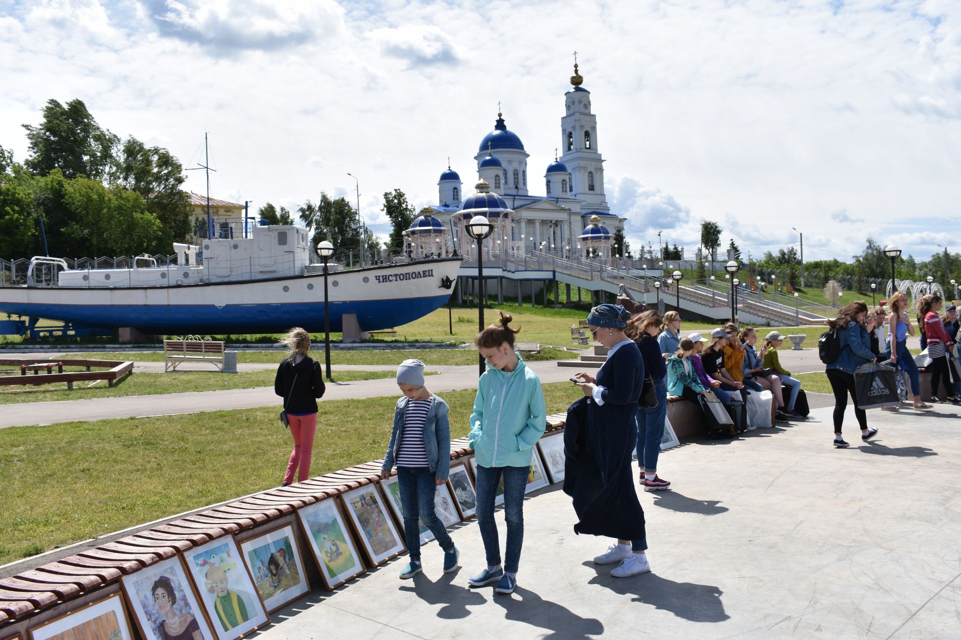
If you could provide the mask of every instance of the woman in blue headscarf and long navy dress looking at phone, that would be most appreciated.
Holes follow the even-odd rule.
[[[574,498],[576,533],[617,538],[597,564],[618,563],[611,572],[627,578],[651,571],[645,555],[644,510],[637,500],[630,454],[637,442],[637,399],[644,384],[641,352],[626,335],[630,314],[602,304],[591,309],[587,326],[607,348],[597,376],[579,372],[584,397],[568,410],[564,491]]]

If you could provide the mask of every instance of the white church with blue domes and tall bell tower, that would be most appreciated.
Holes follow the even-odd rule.
[[[625,218],[610,212],[604,196],[604,158],[598,145],[597,116],[591,111],[591,94],[581,84],[574,65],[571,88],[564,94],[564,115],[560,118],[563,154],[554,156],[542,176],[530,172],[528,158],[517,133],[508,130],[504,115],[497,114],[494,130],[487,133],[474,156],[480,190],[503,198],[513,211],[501,220],[487,241],[488,252],[543,251],[558,257],[575,258],[593,247],[610,256],[614,233],[624,228]],[[450,166],[437,181],[437,204],[424,207],[408,229],[408,254],[474,254],[472,240],[464,231],[465,221],[457,212],[464,201],[473,201],[475,182],[465,189]],[[588,238],[591,239],[588,242]]]

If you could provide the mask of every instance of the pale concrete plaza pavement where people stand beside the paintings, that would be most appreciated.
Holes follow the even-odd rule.
[[[407,557],[273,614],[262,640],[349,638],[959,638],[958,410],[869,412],[878,438],[830,446],[830,408],[795,426],[685,444],[640,492],[653,571],[614,579],[590,558],[608,540],[572,533],[557,486],[525,503],[513,595],[467,588],[484,565],[475,521],[452,533],[462,568],[400,581]],[[853,415],[849,412],[849,421]],[[504,544],[503,511],[497,519]]]

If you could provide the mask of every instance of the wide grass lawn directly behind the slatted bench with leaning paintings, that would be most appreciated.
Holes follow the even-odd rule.
[[[452,438],[474,391],[442,397]],[[580,391],[544,385],[548,413]],[[311,475],[383,457],[391,398],[320,403]],[[0,564],[280,486],[291,449],[275,407],[0,430]]]

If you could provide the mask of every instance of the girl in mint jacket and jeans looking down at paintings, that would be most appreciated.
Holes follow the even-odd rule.
[[[524,492],[530,458],[547,427],[544,391],[537,374],[514,350],[513,320],[501,320],[480,332],[475,344],[487,361],[478,381],[468,436],[477,461],[478,526],[487,566],[468,582],[480,586],[497,582],[497,593],[513,593],[524,542]],[[503,486],[507,545],[501,566],[501,544],[494,522],[494,501]]]

